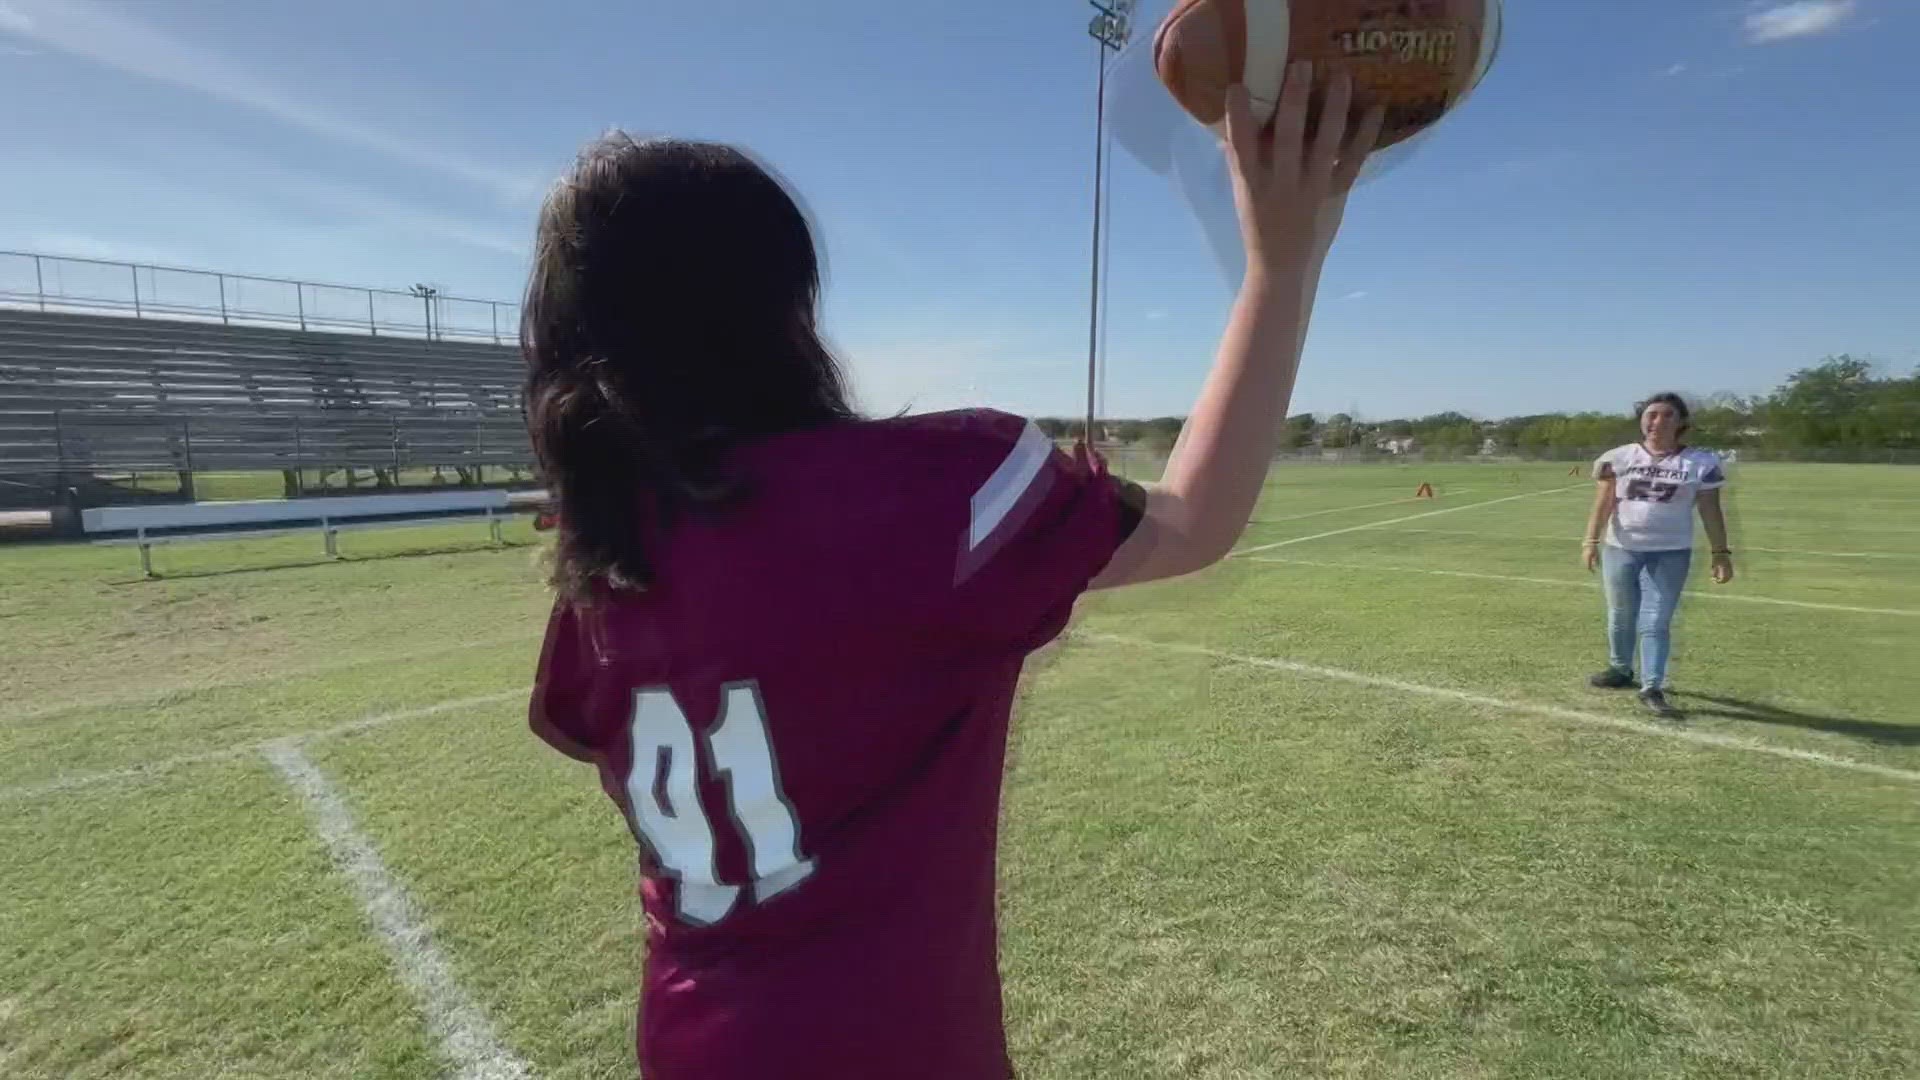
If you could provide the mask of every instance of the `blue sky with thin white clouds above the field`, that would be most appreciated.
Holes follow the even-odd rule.
[[[804,8],[804,10],[803,10]],[[622,125],[737,142],[822,223],[872,409],[1085,396],[1079,0],[0,0],[0,248],[516,298]],[[1920,6],[1509,0],[1500,65],[1361,188],[1296,409],[1624,409],[1920,363]],[[1114,171],[1108,415],[1181,413],[1231,300]]]

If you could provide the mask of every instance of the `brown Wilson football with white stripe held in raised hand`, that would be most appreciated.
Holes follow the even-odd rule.
[[[1498,50],[1500,0],[1177,0],[1154,35],[1154,69],[1225,135],[1227,86],[1244,83],[1267,123],[1290,61],[1311,60],[1317,85],[1344,67],[1361,104],[1386,106],[1386,148],[1457,106]]]

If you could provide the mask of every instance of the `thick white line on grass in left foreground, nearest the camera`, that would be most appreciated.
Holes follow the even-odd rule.
[[[326,844],[326,853],[359,896],[367,920],[394,957],[399,980],[420,1001],[426,1026],[440,1051],[453,1063],[459,1080],[524,1080],[524,1061],[501,1045],[493,1024],[453,978],[453,965],[434,945],[426,920],[394,880],[372,842],[353,824],[353,813],[340,792],[300,749],[280,740],[263,748],[267,761],[307,803],[307,817]]]

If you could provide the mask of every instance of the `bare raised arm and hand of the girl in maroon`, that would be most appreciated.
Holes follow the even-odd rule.
[[[1227,154],[1246,281],[1167,471],[1146,488],[1144,519],[1094,588],[1206,569],[1246,528],[1279,448],[1321,267],[1380,136],[1384,113],[1375,106],[1348,138],[1352,94],[1352,79],[1338,73],[1308,142],[1309,63],[1288,69],[1267,131],[1256,131],[1246,90],[1229,92]]]

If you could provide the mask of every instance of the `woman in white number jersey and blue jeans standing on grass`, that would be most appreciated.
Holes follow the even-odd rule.
[[[1693,561],[1695,507],[1713,544],[1713,580],[1734,580],[1720,509],[1726,471],[1715,454],[1686,446],[1688,417],[1680,394],[1655,394],[1640,404],[1644,440],[1594,461],[1597,490],[1582,544],[1586,569],[1601,567],[1607,590],[1607,671],[1590,682],[1607,690],[1634,686],[1638,638],[1640,700],[1661,717],[1678,715],[1667,703],[1667,653]]]

